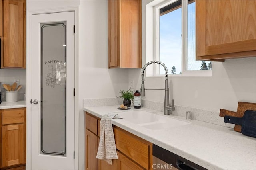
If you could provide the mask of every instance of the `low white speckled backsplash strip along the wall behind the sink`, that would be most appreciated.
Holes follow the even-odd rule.
[[[155,102],[150,100],[141,100],[142,107],[163,112],[164,102]],[[102,98],[102,99],[84,99],[84,107],[94,107],[94,106],[108,106],[108,105],[118,105],[122,104],[122,99],[120,98]],[[133,104],[131,105],[133,107]],[[198,109],[187,106],[174,105],[175,111],[172,112],[173,115],[178,115],[181,117],[186,117],[186,111],[191,111],[192,119],[198,121],[204,121],[207,123],[212,123],[220,126],[234,128],[234,125],[229,123],[224,123],[224,117],[219,116],[217,111],[209,111],[204,109]]]

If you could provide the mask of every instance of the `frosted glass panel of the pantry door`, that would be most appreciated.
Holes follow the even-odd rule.
[[[66,22],[40,28],[40,154],[66,156]]]

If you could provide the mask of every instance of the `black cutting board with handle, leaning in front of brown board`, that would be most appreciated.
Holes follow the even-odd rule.
[[[243,117],[225,116],[224,122],[241,125],[244,135],[256,137],[256,111],[246,110]]]

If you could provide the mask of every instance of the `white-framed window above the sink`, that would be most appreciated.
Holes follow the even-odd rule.
[[[195,60],[195,8],[194,0],[172,0],[154,7],[154,59],[166,64],[169,74],[211,74],[211,62]],[[155,69],[156,75],[164,74],[162,67],[156,66]]]

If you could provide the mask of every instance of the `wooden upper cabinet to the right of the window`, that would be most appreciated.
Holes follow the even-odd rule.
[[[196,60],[256,57],[255,0],[196,0]]]

